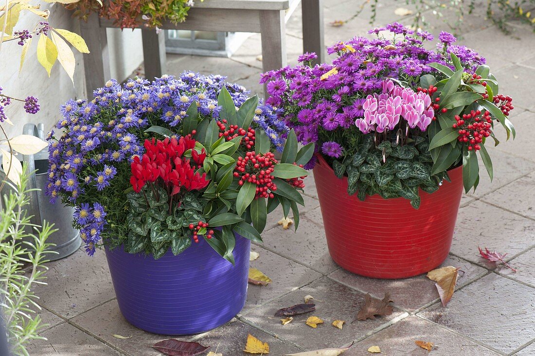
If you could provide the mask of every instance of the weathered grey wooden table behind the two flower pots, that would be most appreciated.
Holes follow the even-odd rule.
[[[162,29],[184,29],[214,32],[255,32],[262,38],[264,71],[286,65],[286,21],[299,3],[303,16],[303,51],[316,52],[318,62],[324,62],[322,0],[204,0],[196,1],[186,21],[163,24]],[[80,21],[80,32],[90,54],[84,58],[88,96],[104,86],[110,78],[106,28],[118,27],[112,20],[92,14],[87,22]],[[147,78],[165,74],[164,32],[142,29],[143,58]]]

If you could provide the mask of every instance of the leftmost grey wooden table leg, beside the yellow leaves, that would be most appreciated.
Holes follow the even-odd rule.
[[[83,55],[83,71],[86,79],[86,95],[91,97],[93,90],[104,86],[110,79],[110,55],[106,28],[100,27],[97,14],[93,13],[88,21],[80,21],[80,35],[86,41],[89,54]]]

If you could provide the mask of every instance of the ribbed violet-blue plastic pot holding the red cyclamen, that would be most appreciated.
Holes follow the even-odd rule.
[[[158,260],[106,247],[121,313],[135,327],[161,335],[198,334],[225,324],[245,305],[250,245],[236,235],[235,266],[203,238]]]

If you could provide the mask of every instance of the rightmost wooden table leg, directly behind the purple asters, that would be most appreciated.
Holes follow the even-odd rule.
[[[303,0],[303,51],[316,52],[316,63],[325,62],[323,36],[323,0]]]

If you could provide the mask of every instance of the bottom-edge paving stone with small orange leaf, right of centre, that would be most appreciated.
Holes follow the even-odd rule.
[[[429,351],[416,346],[415,340],[433,343],[433,356],[492,356],[499,355],[484,346],[448,331],[437,324],[417,316],[409,316],[385,330],[379,331],[352,346],[344,356],[361,356],[368,354],[370,346],[379,346],[387,355],[425,356]]]

